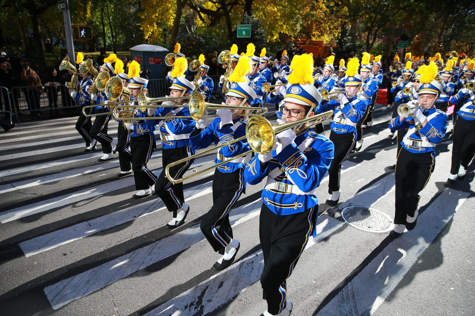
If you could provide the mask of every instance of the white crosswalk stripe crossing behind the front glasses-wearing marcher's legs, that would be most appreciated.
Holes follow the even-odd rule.
[[[343,223],[340,221],[327,215],[320,216],[315,227],[319,234],[316,238],[309,239],[306,248],[329,237],[341,226]],[[211,313],[257,282],[263,268],[264,258],[262,250],[259,250],[143,316],[196,315],[198,311],[200,315]]]

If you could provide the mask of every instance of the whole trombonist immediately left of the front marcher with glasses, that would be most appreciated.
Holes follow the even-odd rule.
[[[245,77],[250,67],[250,58],[239,59],[233,74],[229,77],[231,88],[226,93],[226,104],[232,106],[248,106],[257,97],[249,87]],[[196,149],[206,148],[211,144],[222,144],[245,135],[246,119],[239,117],[243,110],[217,110],[219,118],[213,119],[206,127],[206,118],[196,121],[196,127],[190,136],[190,145]],[[218,151],[215,163],[231,159],[249,150],[246,140],[230,144]],[[203,216],[200,229],[215,252],[222,256],[213,265],[215,270],[229,267],[239,250],[239,241],[233,238],[233,230],[229,222],[229,212],[240,195],[244,192],[244,166],[247,156],[234,159],[215,169],[213,177],[213,206]]]

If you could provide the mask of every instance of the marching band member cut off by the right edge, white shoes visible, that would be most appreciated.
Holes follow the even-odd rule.
[[[475,81],[470,81],[475,84]],[[451,101],[459,110],[454,122],[452,133],[452,166],[449,182],[462,180],[467,173],[467,167],[475,153],[475,93],[474,90],[462,88]]]

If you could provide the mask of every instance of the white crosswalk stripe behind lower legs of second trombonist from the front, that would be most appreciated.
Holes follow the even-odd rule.
[[[261,199],[232,211],[229,217],[232,227],[259,215]],[[189,248],[204,240],[199,224],[172,236],[106,262],[76,276],[47,286],[44,291],[53,309],[88,295],[98,289],[142,270],[160,260]]]

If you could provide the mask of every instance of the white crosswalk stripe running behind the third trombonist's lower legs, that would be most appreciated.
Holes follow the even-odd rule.
[[[185,190],[186,200],[192,200],[211,193],[211,181],[205,184],[194,186]],[[134,221],[137,218],[153,214],[164,210],[161,199],[146,201],[140,205],[134,205],[117,212],[97,217],[87,222],[82,222],[67,228],[63,228],[52,233],[32,238],[19,243],[21,250],[26,257],[47,251],[60,245],[97,234],[109,228]]]

